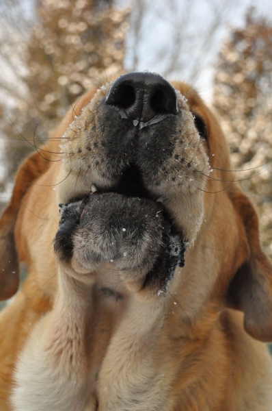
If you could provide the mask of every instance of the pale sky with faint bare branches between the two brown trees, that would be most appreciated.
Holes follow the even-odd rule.
[[[195,84],[212,65],[218,34],[239,1],[118,0],[132,5],[126,40],[128,70],[154,69],[164,77],[181,75]]]

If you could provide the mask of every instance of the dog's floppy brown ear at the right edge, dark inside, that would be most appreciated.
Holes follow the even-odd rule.
[[[260,247],[258,216],[251,202],[242,192],[236,192],[232,202],[245,226],[249,258],[230,282],[227,302],[245,313],[247,333],[267,343],[272,341],[272,265]]]

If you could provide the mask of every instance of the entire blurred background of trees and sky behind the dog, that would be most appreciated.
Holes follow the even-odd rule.
[[[0,0],[0,210],[14,173],[98,77],[184,79],[213,108],[272,258],[271,0]]]

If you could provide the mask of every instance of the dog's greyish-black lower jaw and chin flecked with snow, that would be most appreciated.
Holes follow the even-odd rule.
[[[111,262],[128,280],[166,290],[185,247],[161,203],[112,192],[61,205],[55,252],[75,271]]]

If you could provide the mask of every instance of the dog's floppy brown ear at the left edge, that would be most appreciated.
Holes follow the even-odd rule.
[[[15,294],[19,285],[19,264],[14,227],[23,196],[33,181],[49,166],[49,161],[33,153],[19,169],[12,197],[0,219],[0,301]]]

